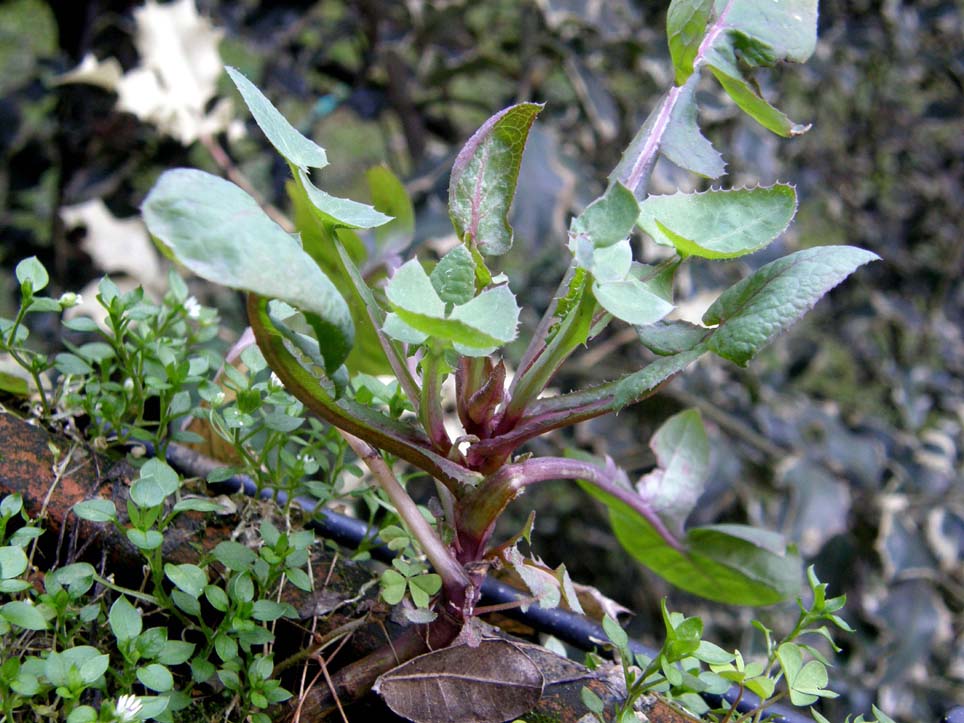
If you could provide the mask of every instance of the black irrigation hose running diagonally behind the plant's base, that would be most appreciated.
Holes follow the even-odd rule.
[[[148,449],[150,453],[153,453],[150,447]],[[198,463],[202,459],[201,455],[185,447],[176,444],[168,445],[167,461],[182,472],[203,475],[206,470],[198,469]],[[208,467],[209,461],[204,460],[201,466]],[[254,480],[246,475],[235,475],[215,484],[225,487],[231,492],[243,492],[248,497],[258,495],[257,485]],[[271,489],[261,490],[260,496],[263,499],[275,499],[282,505],[288,501],[288,495],[285,492],[276,492]],[[296,497],[293,502],[312,515],[307,526],[319,532],[322,536],[351,548],[357,548],[366,541],[375,543],[369,547],[369,552],[373,558],[381,562],[390,563],[395,557],[393,550],[385,545],[378,544],[378,538],[374,530],[361,520],[340,515],[328,509],[318,509],[317,503],[306,497]],[[498,580],[489,578],[482,583],[481,602],[485,605],[512,603],[524,597],[515,588]],[[606,640],[606,633],[601,625],[597,625],[583,615],[577,615],[559,608],[548,609],[538,605],[530,605],[525,611],[521,607],[511,607],[501,611],[501,614],[523,622],[539,632],[552,635],[580,650],[593,650],[599,647],[600,641]],[[655,650],[635,640],[630,640],[629,647],[634,654],[641,654],[648,658],[656,655]],[[703,693],[702,696],[707,704],[714,708],[719,707],[723,701],[730,705],[735,702],[736,710],[740,713],[749,713],[756,710],[760,704],[760,699],[750,691],[744,691],[741,696],[737,686],[731,687],[723,695]],[[764,709],[763,718],[767,719],[767,716],[770,716],[768,720],[774,723],[813,723],[809,717],[783,705],[771,705]]]

